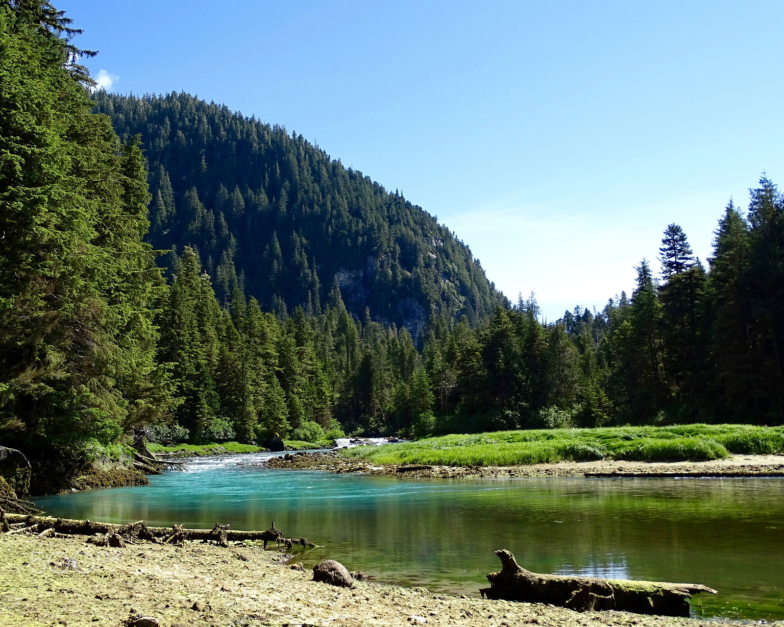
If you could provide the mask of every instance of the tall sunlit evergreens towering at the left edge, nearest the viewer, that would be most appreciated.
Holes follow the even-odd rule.
[[[152,324],[165,287],[141,241],[142,154],[90,113],[68,24],[0,3],[0,426],[111,441],[171,404]]]

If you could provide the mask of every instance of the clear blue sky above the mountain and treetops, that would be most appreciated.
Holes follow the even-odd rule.
[[[110,91],[302,133],[550,320],[630,292],[670,222],[706,258],[730,197],[763,171],[784,184],[782,2],[56,5]]]

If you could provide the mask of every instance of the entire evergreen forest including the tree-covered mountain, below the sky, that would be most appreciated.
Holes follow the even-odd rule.
[[[632,294],[545,323],[302,136],[94,91],[76,34],[48,2],[0,2],[0,443],[784,424],[770,180],[724,208],[706,265],[670,224]]]

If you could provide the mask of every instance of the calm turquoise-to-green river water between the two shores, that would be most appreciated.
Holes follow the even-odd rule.
[[[510,549],[531,571],[704,583],[705,616],[784,618],[782,479],[401,480],[203,458],[184,473],[35,499],[48,513],[306,536],[373,578],[477,595]],[[702,596],[702,599],[700,597]],[[702,605],[701,605],[702,601]]]

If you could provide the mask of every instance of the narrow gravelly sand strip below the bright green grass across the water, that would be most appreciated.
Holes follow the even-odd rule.
[[[270,468],[318,469],[392,477],[784,477],[784,455],[732,455],[710,462],[558,462],[532,466],[376,466],[336,451],[298,453],[264,462]]]

